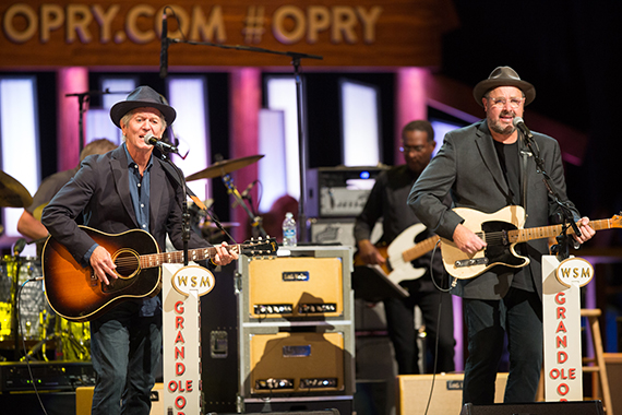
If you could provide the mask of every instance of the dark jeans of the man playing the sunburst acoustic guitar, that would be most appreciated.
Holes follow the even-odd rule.
[[[139,317],[139,304],[125,301],[91,321],[94,415],[149,414],[160,365],[162,315]]]

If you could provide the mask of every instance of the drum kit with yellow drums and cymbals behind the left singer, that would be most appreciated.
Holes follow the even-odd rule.
[[[253,213],[232,185],[229,174],[256,163],[262,157],[263,155],[255,155],[218,161],[204,170],[187,177],[187,180],[223,177],[229,192],[253,218]],[[27,208],[32,203],[33,198],[28,190],[15,178],[0,170],[0,208]],[[37,218],[39,220],[41,210],[35,210],[35,214],[38,212]],[[194,209],[192,213],[195,228],[200,229],[202,236],[212,244],[227,239],[227,228],[239,226],[239,223],[220,223],[207,218],[205,212],[198,209]],[[13,256],[1,257],[0,351],[13,349],[15,360],[26,358],[48,360],[50,358],[48,351],[53,351],[53,359],[89,360],[88,322],[70,322],[57,316],[46,299],[41,277],[40,259],[20,257],[17,250],[13,251]],[[0,360],[3,358],[4,356],[0,354]]]

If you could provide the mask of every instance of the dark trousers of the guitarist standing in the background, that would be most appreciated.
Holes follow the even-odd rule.
[[[439,319],[439,300],[442,297],[441,324],[439,334],[439,355],[436,372],[454,371],[454,316],[452,296],[422,285],[432,282],[422,280],[408,281],[403,286],[408,288],[407,298],[390,298],[384,301],[386,312],[386,327],[388,336],[395,349],[395,359],[399,375],[419,374],[419,346],[417,345],[417,331],[415,328],[415,306],[421,309],[426,324],[427,347],[434,352]],[[432,354],[433,355],[433,354]],[[423,365],[426,371],[432,372],[432,363]]]

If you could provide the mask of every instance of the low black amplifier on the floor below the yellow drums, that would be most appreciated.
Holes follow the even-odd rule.
[[[38,390],[73,391],[77,387],[95,384],[93,365],[86,361],[0,363],[0,388],[4,392]],[[32,371],[32,377],[31,377]]]

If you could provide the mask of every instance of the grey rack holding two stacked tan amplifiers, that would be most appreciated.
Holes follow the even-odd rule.
[[[352,248],[300,246],[278,253],[238,261],[239,410],[256,412],[248,404],[268,398],[351,401]]]

